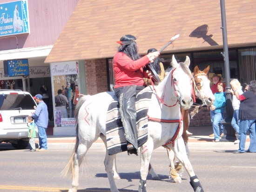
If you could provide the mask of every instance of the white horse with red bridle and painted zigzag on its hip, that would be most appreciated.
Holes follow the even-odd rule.
[[[189,63],[189,57],[184,63],[178,64],[173,56],[174,69],[155,87],[152,94],[148,109],[148,140],[140,148],[141,179],[138,192],[146,192],[146,178],[153,150],[167,143],[167,146],[175,152],[176,157],[189,173],[190,184],[194,191],[203,192],[189,162],[181,137],[183,126],[180,105],[184,109],[189,109],[193,103],[191,99],[192,74],[188,67]],[[72,188],[68,192],[77,192],[79,166],[94,141],[100,137],[107,147],[106,112],[113,97],[113,93],[107,92],[83,96],[77,104],[76,145],[66,168],[63,170],[64,173],[71,172],[73,175]],[[116,154],[108,155],[107,150],[104,160],[111,192],[119,192],[112,173],[115,156]]]

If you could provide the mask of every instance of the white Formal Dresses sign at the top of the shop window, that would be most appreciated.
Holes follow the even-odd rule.
[[[78,73],[78,62],[67,61],[60,63],[51,63],[52,75],[68,75]]]

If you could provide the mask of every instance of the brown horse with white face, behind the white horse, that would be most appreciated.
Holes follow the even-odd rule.
[[[195,97],[202,100],[203,105],[210,106],[214,103],[215,97],[210,89],[210,80],[208,79],[208,72],[209,72],[210,66],[205,68],[203,71],[200,71],[198,66],[195,66],[194,73],[193,73],[193,87],[195,92]],[[188,147],[188,134],[187,130],[189,128],[189,109],[181,109],[182,112],[182,118],[183,118],[183,133],[182,138],[185,142],[186,146],[186,152],[189,156],[189,147]],[[174,152],[167,148],[168,153],[168,159],[170,161],[170,176],[175,181],[175,183],[182,183],[181,175],[178,174],[180,169],[182,169],[182,163],[178,162],[177,164],[174,163],[175,154]],[[149,164],[148,173],[152,175],[153,180],[159,180],[158,174],[154,171],[151,164]],[[120,175],[117,172],[117,167],[114,160],[114,166],[113,166],[113,174],[115,179],[121,179]]]

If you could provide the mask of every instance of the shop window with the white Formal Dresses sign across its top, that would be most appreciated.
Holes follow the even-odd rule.
[[[79,97],[78,62],[51,63],[54,126],[75,126],[75,105]]]

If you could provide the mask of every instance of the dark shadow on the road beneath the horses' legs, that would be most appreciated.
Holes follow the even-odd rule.
[[[120,172],[119,173],[121,179],[126,179],[128,182],[132,182],[132,179],[140,179],[141,178],[141,173],[140,172]],[[165,182],[171,182],[174,183],[174,180],[170,180],[168,175],[161,175],[158,174],[160,180],[158,181],[165,181]],[[97,173],[95,177],[101,177],[101,178],[108,178],[107,173]],[[150,174],[147,176],[147,180],[152,180],[152,177]],[[187,180],[183,179],[182,180]],[[156,180],[157,181],[157,180]]]

